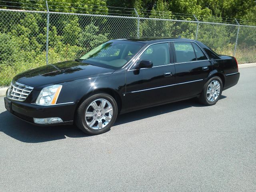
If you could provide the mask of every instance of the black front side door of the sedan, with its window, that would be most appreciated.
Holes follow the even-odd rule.
[[[149,46],[137,64],[141,60],[152,61],[153,67],[140,70],[131,68],[126,72],[126,110],[144,108],[173,99],[175,67],[172,58],[170,59],[169,44]]]

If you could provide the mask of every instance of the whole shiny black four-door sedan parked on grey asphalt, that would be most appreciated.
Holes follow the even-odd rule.
[[[117,39],[79,59],[18,74],[4,101],[27,122],[75,123],[88,134],[101,134],[121,113],[193,97],[214,105],[239,76],[236,58],[196,40]]]

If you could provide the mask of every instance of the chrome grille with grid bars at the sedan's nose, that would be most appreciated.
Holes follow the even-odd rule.
[[[24,101],[33,89],[33,87],[18,82],[11,82],[8,88],[7,98],[16,101]]]

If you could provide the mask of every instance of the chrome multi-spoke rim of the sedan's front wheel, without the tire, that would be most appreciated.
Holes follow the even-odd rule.
[[[112,119],[113,107],[106,99],[91,102],[85,112],[85,122],[92,129],[104,128]]]

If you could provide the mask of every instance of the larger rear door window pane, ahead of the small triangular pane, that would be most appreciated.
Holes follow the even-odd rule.
[[[196,61],[196,55],[190,42],[174,42],[176,62]]]

